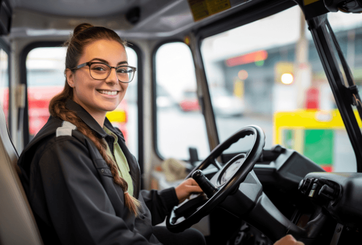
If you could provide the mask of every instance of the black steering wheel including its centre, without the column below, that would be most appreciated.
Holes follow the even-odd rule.
[[[221,167],[216,158],[232,144],[247,135],[255,136],[249,154],[241,153],[232,158],[224,167]],[[262,155],[264,146],[265,134],[263,130],[259,126],[249,125],[214,148],[210,155],[186,177],[193,176],[195,179],[202,178],[202,181],[206,181],[206,187],[202,187],[200,183],[199,185],[207,193],[207,196],[205,194],[199,195],[178,207],[174,207],[167,217],[167,228],[171,232],[181,232],[189,228],[208,215],[227,196],[238,190],[240,183],[245,180],[248,173],[252,171],[256,161]],[[206,169],[210,164],[213,164],[218,169],[218,172],[209,181],[206,177],[202,176],[200,170]]]

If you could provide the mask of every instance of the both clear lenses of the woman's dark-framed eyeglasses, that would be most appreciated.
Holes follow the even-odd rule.
[[[103,80],[111,73],[111,69],[105,64],[95,63],[90,66],[90,72],[94,79]],[[133,79],[134,70],[130,67],[121,66],[116,73],[121,82],[130,82]]]

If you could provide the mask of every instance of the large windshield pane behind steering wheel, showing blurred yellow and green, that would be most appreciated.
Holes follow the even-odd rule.
[[[356,172],[313,40],[300,37],[300,14],[295,6],[202,41],[220,141],[256,124],[265,132],[265,149],[280,144],[326,171]],[[248,151],[252,140],[242,139],[228,152]]]

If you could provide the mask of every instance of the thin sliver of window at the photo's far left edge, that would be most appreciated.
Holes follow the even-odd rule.
[[[0,106],[5,114],[5,120],[9,127],[9,66],[8,55],[0,48]]]

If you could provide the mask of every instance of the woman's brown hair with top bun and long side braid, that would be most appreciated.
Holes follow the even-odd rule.
[[[126,45],[126,42],[123,41],[120,36],[118,36],[117,33],[111,29],[100,26],[93,26],[87,23],[77,25],[74,28],[72,37],[65,43],[65,46],[68,46],[65,69],[72,69],[73,67],[76,67],[80,57],[83,54],[84,48],[87,45],[99,40],[116,41],[119,42],[123,47]],[[66,100],[72,98],[73,89],[71,86],[69,86],[66,78],[63,91],[50,100],[50,115],[62,121],[68,121],[74,124],[79,132],[87,136],[96,145],[99,153],[102,155],[103,159],[111,169],[114,182],[120,185],[123,190],[124,205],[137,217],[139,215],[141,203],[139,200],[128,193],[127,182],[119,175],[115,161],[107,155],[106,143],[102,138],[98,137],[97,133],[94,132],[86,123],[84,123],[75,114],[75,112],[65,107]]]

